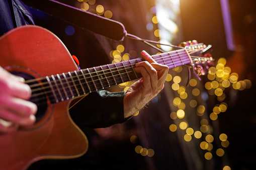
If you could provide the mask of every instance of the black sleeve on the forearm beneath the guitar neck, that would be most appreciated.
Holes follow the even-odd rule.
[[[106,90],[93,92],[69,109],[78,126],[90,128],[108,127],[123,123],[125,92],[111,93]]]

